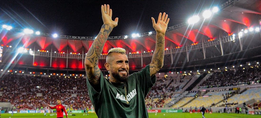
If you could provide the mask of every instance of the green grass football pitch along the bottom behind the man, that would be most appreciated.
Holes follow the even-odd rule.
[[[50,114],[47,114],[48,116],[44,116],[43,113],[28,113],[28,114],[14,114],[13,116],[11,116],[11,114],[1,114],[1,118],[56,118],[56,116],[50,116]],[[200,113],[195,114],[195,113],[157,113],[157,115],[155,115],[155,113],[149,113],[149,117],[150,118],[173,118],[173,117],[181,117],[181,118],[201,118],[202,115]],[[231,114],[227,114],[227,113],[213,113],[213,114],[205,114],[206,118],[236,118],[236,117],[241,117],[241,118],[246,118],[246,117],[250,117],[250,118],[254,118],[254,117],[261,117],[261,115],[246,115],[246,114],[235,114],[235,113],[231,113]],[[65,116],[64,116],[65,118]],[[70,116],[69,118],[97,118],[96,114],[94,113],[90,113],[89,115],[85,116],[83,115],[83,113],[75,113],[75,116]]]

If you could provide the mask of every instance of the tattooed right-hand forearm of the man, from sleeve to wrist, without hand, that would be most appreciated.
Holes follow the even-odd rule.
[[[155,53],[152,56],[150,63],[150,76],[155,75],[163,66],[164,61],[164,48],[165,48],[165,38],[162,34],[156,35],[156,47]]]

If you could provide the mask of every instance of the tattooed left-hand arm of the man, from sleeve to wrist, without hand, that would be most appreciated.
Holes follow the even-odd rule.
[[[86,54],[84,62],[85,71],[90,83],[93,85],[99,84],[100,69],[97,65],[97,62],[111,31],[112,26],[103,24],[97,38],[93,41],[90,49]]]

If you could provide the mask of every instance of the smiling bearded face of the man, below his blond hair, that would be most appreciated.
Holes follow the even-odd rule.
[[[126,54],[110,53],[107,55],[106,69],[110,72],[113,82],[126,82],[129,77],[129,61]]]

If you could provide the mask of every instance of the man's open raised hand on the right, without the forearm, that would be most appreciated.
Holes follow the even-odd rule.
[[[156,32],[165,34],[169,24],[168,14],[166,14],[165,12],[163,14],[159,13],[157,23],[155,22],[155,19],[153,17],[151,17],[151,19],[152,19],[153,28],[156,30]]]

